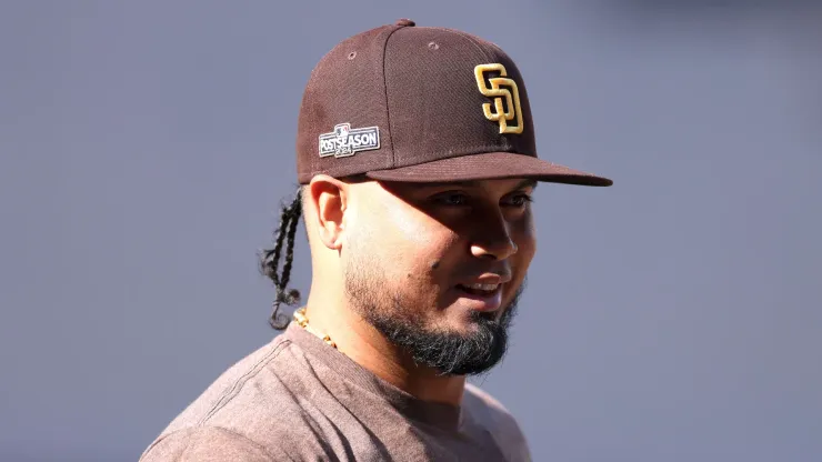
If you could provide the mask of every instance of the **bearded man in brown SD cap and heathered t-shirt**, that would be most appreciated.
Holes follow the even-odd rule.
[[[505,352],[537,249],[537,182],[611,181],[537,158],[525,87],[501,49],[410,20],[320,61],[297,167],[301,188],[263,258],[285,332],[142,461],[530,460],[517,421],[465,376]],[[313,274],[288,324],[300,218]]]

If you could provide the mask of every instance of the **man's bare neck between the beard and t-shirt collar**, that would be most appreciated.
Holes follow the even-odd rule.
[[[462,401],[464,376],[440,375],[431,368],[414,364],[403,349],[349,308],[309,298],[305,317],[312,330],[328,334],[340,352],[400,390],[423,401],[451,405]]]

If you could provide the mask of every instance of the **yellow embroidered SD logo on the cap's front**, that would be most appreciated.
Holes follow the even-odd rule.
[[[485,84],[485,72],[499,72],[500,77],[492,77],[488,79],[491,84],[489,88]],[[493,99],[494,110],[491,110],[491,103],[487,102],[482,104],[482,112],[485,114],[485,119],[497,122],[500,124],[500,133],[522,133],[522,108],[520,108],[520,91],[517,89],[517,82],[508,78],[508,71],[505,67],[499,63],[494,64],[480,64],[474,68],[474,76],[477,77],[477,86],[480,88],[480,92],[488,98]],[[500,87],[509,87],[500,88]],[[505,103],[503,106],[503,98]],[[505,111],[508,108],[508,111]],[[508,122],[517,119],[515,125],[509,125]]]

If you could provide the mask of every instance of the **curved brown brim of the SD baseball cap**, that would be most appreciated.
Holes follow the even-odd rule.
[[[530,178],[537,181],[588,187],[613,184],[613,181],[603,177],[511,152],[461,155],[398,169],[370,171],[367,175],[374,180],[411,183]]]

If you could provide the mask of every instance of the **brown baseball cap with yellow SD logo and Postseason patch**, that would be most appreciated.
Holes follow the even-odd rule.
[[[300,108],[297,172],[301,184],[321,173],[612,184],[538,158],[525,84],[504,51],[408,19],[343,40],[317,64]]]

